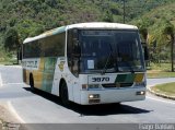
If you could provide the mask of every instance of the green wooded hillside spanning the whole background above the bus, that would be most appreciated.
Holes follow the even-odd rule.
[[[173,24],[174,0],[125,0],[126,23],[149,20],[149,28],[165,17]],[[79,22],[124,21],[124,0],[0,0],[0,50],[5,33],[14,28],[20,42],[47,29]]]

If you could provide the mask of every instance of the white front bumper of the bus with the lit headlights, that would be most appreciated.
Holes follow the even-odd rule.
[[[81,91],[81,105],[110,104],[145,99],[145,87]]]

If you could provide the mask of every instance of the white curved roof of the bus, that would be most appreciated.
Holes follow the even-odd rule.
[[[128,24],[120,24],[120,23],[106,23],[106,22],[91,22],[91,23],[78,23],[78,24],[71,24],[67,26],[57,27],[50,31],[47,31],[38,36],[35,37],[28,37],[26,38],[23,44],[34,42],[44,37],[48,37],[51,35],[56,35],[62,32],[66,32],[67,29],[71,28],[113,28],[113,29],[138,29],[137,26],[128,25]]]

